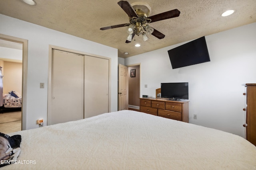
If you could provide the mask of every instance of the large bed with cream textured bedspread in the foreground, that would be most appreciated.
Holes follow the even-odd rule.
[[[132,110],[16,134],[20,162],[1,170],[256,168],[256,147],[240,136]]]

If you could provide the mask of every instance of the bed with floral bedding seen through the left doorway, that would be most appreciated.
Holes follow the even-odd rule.
[[[3,106],[0,107],[0,113],[8,111],[21,111],[22,96],[15,91],[3,94]]]

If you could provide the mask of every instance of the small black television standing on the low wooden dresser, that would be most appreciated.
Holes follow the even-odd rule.
[[[188,82],[161,83],[161,98],[188,99]]]

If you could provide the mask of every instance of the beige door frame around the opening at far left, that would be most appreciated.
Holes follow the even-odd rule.
[[[28,40],[0,34],[0,39],[22,43],[22,120],[21,129],[27,129],[27,83],[28,83]]]

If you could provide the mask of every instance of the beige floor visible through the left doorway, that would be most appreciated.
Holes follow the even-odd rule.
[[[21,131],[21,111],[0,113],[0,132],[12,133]]]

